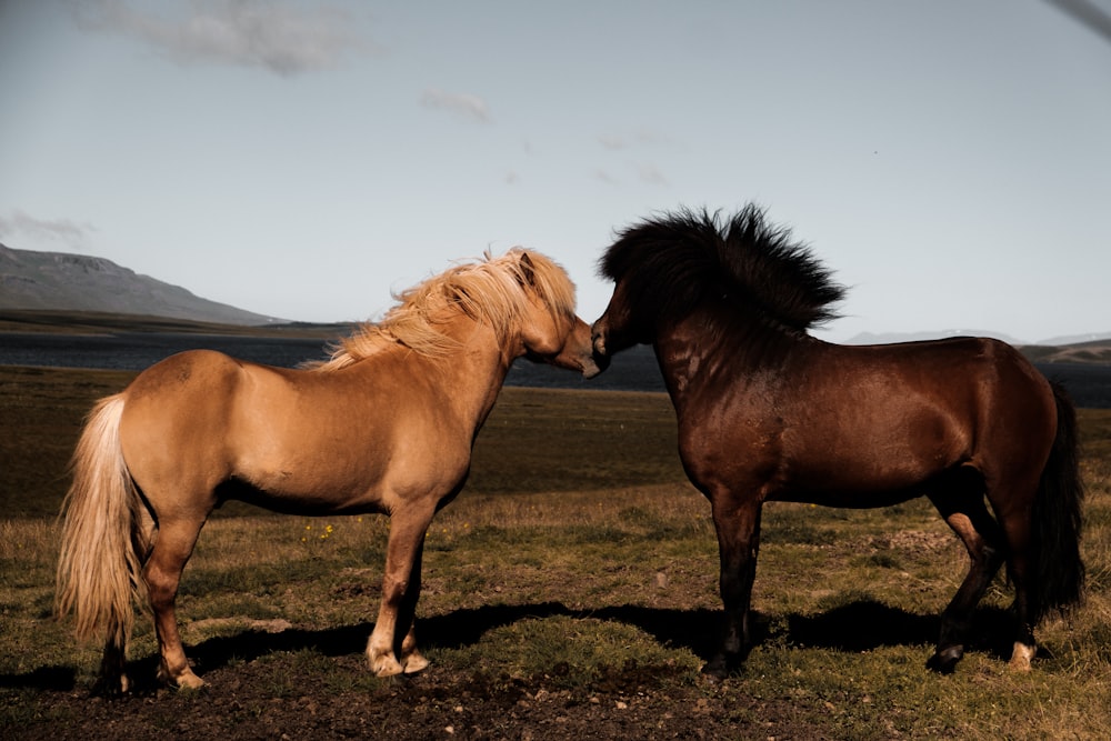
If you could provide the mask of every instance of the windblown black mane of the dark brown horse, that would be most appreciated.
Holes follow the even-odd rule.
[[[683,317],[718,294],[738,311],[805,331],[835,319],[830,304],[844,297],[809,248],[751,203],[724,222],[683,209],[630,227],[602,256],[600,272],[623,281],[633,314],[657,320]]]

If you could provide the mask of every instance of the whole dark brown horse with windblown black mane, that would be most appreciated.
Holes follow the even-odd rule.
[[[953,670],[1005,560],[1011,664],[1029,669],[1034,625],[1083,592],[1075,413],[1060,388],[997,340],[811,337],[843,289],[752,206],[724,222],[682,211],[634,226],[601,272],[615,286],[594,350],[654,346],[683,467],[713,512],[725,633],[703,672],[724,677],[748,652],[765,501],[864,508],[920,495],[971,559],[929,665]]]

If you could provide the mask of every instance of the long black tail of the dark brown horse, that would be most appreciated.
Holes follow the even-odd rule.
[[[1037,543],[1037,623],[1049,612],[1064,611],[1084,595],[1084,562],[1080,558],[1084,487],[1080,480],[1077,410],[1059,383],[1052,383],[1057,401],[1057,438],[1042,471],[1033,507]]]

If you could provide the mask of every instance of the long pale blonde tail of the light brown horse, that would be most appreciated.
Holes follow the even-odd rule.
[[[62,503],[56,609],[74,617],[79,640],[103,637],[122,652],[144,600],[149,540],[142,499],[120,445],[122,393],[100,400],[73,452],[73,483]]]

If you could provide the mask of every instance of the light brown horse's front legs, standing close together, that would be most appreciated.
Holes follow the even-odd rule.
[[[371,671],[379,677],[400,674],[403,671],[412,673],[428,664],[417,651],[412,624],[417,599],[420,597],[424,533],[434,513],[433,502],[430,507],[402,508],[391,517],[390,539],[386,547],[386,573],[382,577],[382,603],[374,630],[367,642],[367,660]],[[403,631],[401,640],[398,640],[399,628]],[[406,663],[398,661],[399,648]]]

